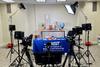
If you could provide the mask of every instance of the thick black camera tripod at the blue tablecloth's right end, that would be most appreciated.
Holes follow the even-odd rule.
[[[71,43],[71,44],[70,44],[69,52],[68,52],[68,54],[67,54],[66,57],[65,57],[65,60],[64,60],[64,62],[63,62],[62,67],[65,67],[65,63],[66,63],[68,57],[69,57],[69,60],[68,60],[68,67],[71,67],[71,57],[72,57],[72,56],[74,57],[77,66],[80,67],[80,64],[79,64],[79,62],[78,62],[78,60],[77,60],[77,58],[76,58],[76,56],[75,56],[75,53],[74,53],[74,49],[73,49],[73,48],[74,48],[75,41],[74,41],[73,39],[74,39],[74,38],[71,37],[71,39],[70,39],[70,43]]]

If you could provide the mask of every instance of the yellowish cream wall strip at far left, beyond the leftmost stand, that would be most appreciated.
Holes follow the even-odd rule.
[[[6,12],[6,7],[5,5],[0,5],[0,13],[1,13],[1,37],[2,38],[2,45],[6,45],[7,42],[9,41],[9,31],[8,31],[8,16]]]

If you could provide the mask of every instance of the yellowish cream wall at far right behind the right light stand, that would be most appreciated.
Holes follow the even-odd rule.
[[[80,4],[81,5],[81,4]],[[96,42],[98,35],[100,34],[100,2],[97,3],[97,11],[92,11],[92,2],[84,3],[84,6],[81,6],[82,11],[87,16],[87,22],[92,24],[92,31],[90,31],[90,40]],[[85,22],[85,17],[81,11],[78,14],[78,24],[81,25]]]

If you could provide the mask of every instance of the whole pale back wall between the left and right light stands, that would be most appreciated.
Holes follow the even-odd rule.
[[[64,5],[32,5],[24,4],[26,9],[19,10],[13,16],[13,23],[18,28],[17,30],[23,30],[27,34],[38,33],[41,23],[46,22],[46,15],[50,17],[51,23],[56,21],[64,22],[65,30],[68,31],[76,25],[77,15],[70,15],[67,13]],[[12,5],[13,13],[18,9],[16,5]],[[22,20],[22,18],[24,20]]]

